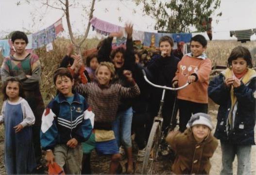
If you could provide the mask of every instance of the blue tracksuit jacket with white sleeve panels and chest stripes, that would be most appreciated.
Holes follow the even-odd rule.
[[[63,94],[59,93],[48,104],[42,116],[42,149],[53,150],[54,146],[66,145],[72,138],[85,142],[91,135],[93,123],[94,114],[83,96],[75,93],[70,104]]]

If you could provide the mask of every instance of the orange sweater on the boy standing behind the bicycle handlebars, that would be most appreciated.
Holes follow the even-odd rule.
[[[208,103],[208,81],[211,72],[211,60],[205,54],[198,58],[185,55],[178,63],[177,72],[173,81],[178,80],[179,87],[185,85],[188,76],[195,74],[196,81],[188,87],[178,90],[177,98],[198,103]]]

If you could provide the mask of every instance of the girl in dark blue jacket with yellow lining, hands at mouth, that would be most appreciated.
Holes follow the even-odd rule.
[[[232,175],[237,155],[237,175],[251,174],[251,147],[255,145],[256,71],[246,47],[235,47],[228,68],[209,84],[208,95],[220,105],[214,136],[221,141],[221,175]]]

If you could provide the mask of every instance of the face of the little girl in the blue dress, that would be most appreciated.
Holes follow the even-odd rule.
[[[19,98],[19,86],[18,82],[10,81],[6,86],[6,95],[8,96],[9,100],[14,102]]]

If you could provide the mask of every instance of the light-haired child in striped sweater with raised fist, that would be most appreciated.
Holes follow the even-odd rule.
[[[133,98],[140,94],[132,73],[124,70],[124,76],[131,87],[122,87],[119,84],[110,84],[115,76],[114,65],[110,62],[101,62],[96,70],[97,83],[80,84],[75,90],[88,97],[88,103],[95,114],[94,134],[95,140],[83,148],[96,148],[98,154],[111,155],[108,174],[116,174],[120,167],[119,147],[115,139],[112,123],[116,118],[121,98]]]

